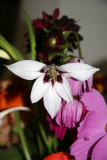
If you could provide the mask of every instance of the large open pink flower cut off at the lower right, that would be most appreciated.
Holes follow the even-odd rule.
[[[96,94],[95,94],[96,93]],[[71,145],[70,154],[76,160],[87,160],[90,156],[92,160],[107,159],[107,106],[102,95],[93,92],[84,95],[82,100],[90,110],[78,128],[78,139]],[[93,110],[92,110],[92,107]]]

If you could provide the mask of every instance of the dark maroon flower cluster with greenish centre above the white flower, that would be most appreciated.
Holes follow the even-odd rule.
[[[32,20],[32,26],[36,37],[36,52],[37,60],[42,60],[46,64],[50,63],[62,63],[62,54],[66,54],[65,51],[78,48],[77,39],[75,34],[71,33],[66,38],[64,32],[73,31],[77,34],[79,40],[83,38],[78,33],[80,26],[76,24],[76,21],[67,16],[63,16],[58,19],[59,9],[55,9],[52,15],[42,12],[42,18]],[[29,35],[27,38],[27,51],[30,51]],[[60,52],[61,54],[58,54]],[[41,53],[42,56],[41,56]],[[56,55],[55,55],[56,53]],[[51,58],[50,58],[51,55]],[[54,56],[53,56],[54,55]],[[60,55],[60,56],[59,56]]]

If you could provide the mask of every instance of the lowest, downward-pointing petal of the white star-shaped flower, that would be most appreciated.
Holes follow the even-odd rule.
[[[51,116],[51,118],[53,119],[60,109],[61,98],[56,93],[54,87],[51,86],[49,91],[43,97],[43,99],[45,108],[49,113],[49,115]]]

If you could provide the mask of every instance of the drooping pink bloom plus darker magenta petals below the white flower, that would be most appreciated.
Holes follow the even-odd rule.
[[[84,118],[85,113],[86,109],[82,102],[74,99],[73,103],[68,103],[62,100],[56,117],[51,119],[47,114],[46,119],[49,122],[50,130],[54,130],[56,137],[62,140],[67,128],[77,127],[77,123]]]

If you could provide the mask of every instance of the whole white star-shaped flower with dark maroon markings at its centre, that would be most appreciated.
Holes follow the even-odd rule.
[[[71,87],[66,77],[85,81],[99,70],[83,63],[47,66],[32,60],[19,61],[7,68],[21,78],[37,79],[31,91],[31,101],[35,103],[43,97],[45,108],[52,118],[58,112],[62,98],[73,102]]]

